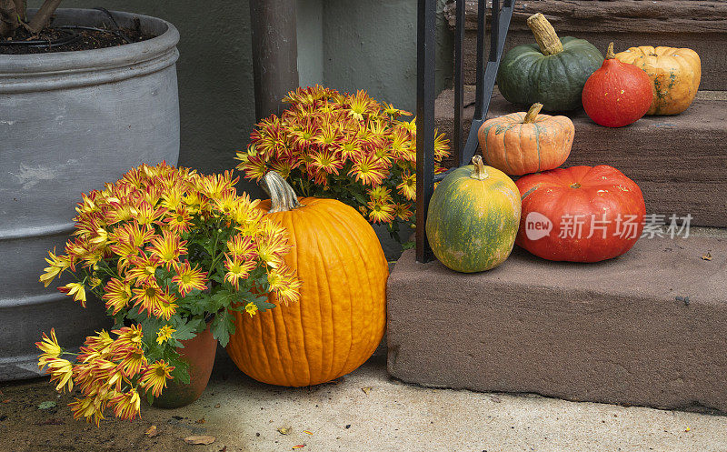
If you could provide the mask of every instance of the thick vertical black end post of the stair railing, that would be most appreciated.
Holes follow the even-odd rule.
[[[436,0],[418,0],[416,51],[416,260],[427,262],[426,213],[434,190],[434,32]]]

